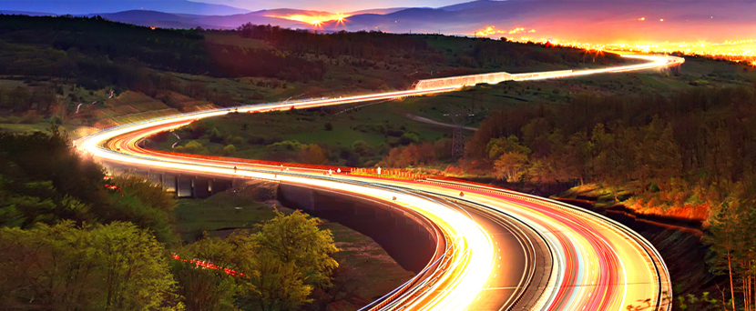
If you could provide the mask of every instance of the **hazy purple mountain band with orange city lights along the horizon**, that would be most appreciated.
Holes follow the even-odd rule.
[[[34,9],[11,3],[51,3],[53,0],[0,1],[0,9],[15,11],[60,12],[59,9]],[[82,4],[101,7],[116,2],[69,0],[75,10]],[[100,4],[97,6],[97,4]],[[137,25],[174,28],[236,28],[242,24],[279,25],[314,29],[297,15],[332,16],[332,13],[297,9],[271,9],[235,12],[236,8],[205,5],[185,0],[124,0],[118,5],[146,5],[144,10],[124,9],[104,17]],[[152,7],[170,7],[153,9]],[[21,8],[23,6],[23,9]],[[175,12],[181,6],[180,12]],[[149,10],[148,10],[149,8]],[[201,9],[200,9],[201,8]],[[78,8],[83,10],[83,8]],[[92,9],[92,8],[90,8]],[[159,11],[159,12],[157,12]],[[219,12],[220,13],[217,13]],[[243,10],[242,10],[243,11]],[[473,35],[494,27],[492,37],[548,39],[580,42],[626,43],[660,41],[724,41],[751,39],[756,34],[756,1],[753,0],[478,0],[441,8],[386,8],[353,12],[344,23],[325,22],[319,31],[381,30],[392,33],[438,33]],[[516,28],[524,28],[525,31]],[[510,33],[511,31],[511,33]]]

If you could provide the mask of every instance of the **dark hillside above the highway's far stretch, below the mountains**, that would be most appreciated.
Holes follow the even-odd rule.
[[[0,129],[94,128],[217,106],[406,89],[420,78],[623,62],[444,35],[243,25],[151,29],[99,17],[0,15]],[[505,61],[506,60],[506,61]]]

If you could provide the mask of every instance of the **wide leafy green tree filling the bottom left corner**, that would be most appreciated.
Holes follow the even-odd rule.
[[[163,246],[127,223],[0,229],[0,305],[179,310]],[[34,304],[30,305],[29,302]]]

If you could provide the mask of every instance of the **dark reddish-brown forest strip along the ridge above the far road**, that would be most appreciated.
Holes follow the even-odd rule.
[[[506,38],[470,39],[444,35],[396,35],[376,31],[318,34],[308,30],[252,24],[241,25],[237,28],[237,33],[241,37],[270,42],[294,55],[325,55],[330,58],[347,55],[392,65],[414,61],[467,68],[501,68],[503,65],[525,66],[537,62],[567,65],[584,60],[584,53],[574,48],[521,45],[507,42]],[[442,40],[451,40],[454,44],[449,47],[434,44]],[[622,62],[618,55],[597,55],[594,58],[594,62],[598,60],[599,65]]]

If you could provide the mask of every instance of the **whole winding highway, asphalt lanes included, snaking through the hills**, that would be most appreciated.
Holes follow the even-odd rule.
[[[683,61],[672,56],[623,56],[647,63],[517,76],[519,80],[562,78],[658,68]],[[628,305],[669,310],[671,305],[664,299],[671,293],[669,272],[653,246],[628,228],[575,206],[461,181],[331,174],[296,165],[270,166],[138,146],[149,135],[205,117],[433,95],[467,85],[465,79],[449,79],[452,82],[435,88],[161,117],[108,128],[77,140],[75,145],[106,163],[316,187],[388,202],[432,222],[442,238],[426,269],[365,310],[627,310]]]

